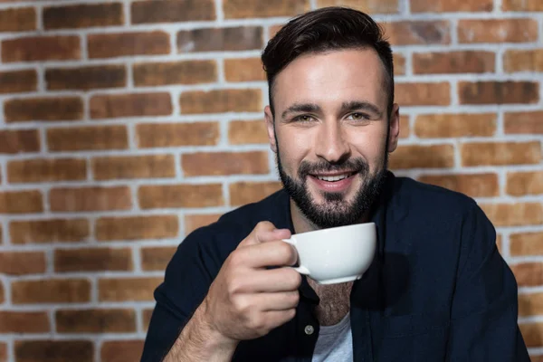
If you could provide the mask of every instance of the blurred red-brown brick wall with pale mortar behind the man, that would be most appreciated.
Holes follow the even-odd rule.
[[[279,187],[259,54],[353,5],[395,47],[398,175],[475,197],[543,361],[543,2],[0,0],[0,361],[136,361],[195,227]]]

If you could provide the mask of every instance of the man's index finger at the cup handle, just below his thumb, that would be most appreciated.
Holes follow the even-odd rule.
[[[298,260],[292,245],[279,240],[248,245],[236,252],[239,262],[252,268],[290,266]]]

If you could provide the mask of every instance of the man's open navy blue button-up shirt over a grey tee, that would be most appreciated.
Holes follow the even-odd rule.
[[[496,248],[494,227],[471,198],[389,173],[371,219],[376,257],[350,295],[355,362],[529,362],[517,324],[517,283]],[[284,190],[224,214],[179,245],[155,291],[143,362],[167,355],[226,257],[261,221],[293,232]],[[304,279],[296,317],[242,341],[233,361],[310,362],[318,303]]]

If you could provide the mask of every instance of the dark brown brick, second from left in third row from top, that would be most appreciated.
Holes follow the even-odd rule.
[[[124,65],[92,65],[77,68],[45,70],[48,90],[94,90],[119,88],[127,85]]]

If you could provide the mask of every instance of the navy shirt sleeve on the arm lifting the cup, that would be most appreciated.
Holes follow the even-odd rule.
[[[168,263],[165,279],[155,291],[157,301],[151,316],[141,362],[159,362],[166,357],[181,330],[205,295],[216,275],[213,257],[205,252],[196,231],[179,245]]]

